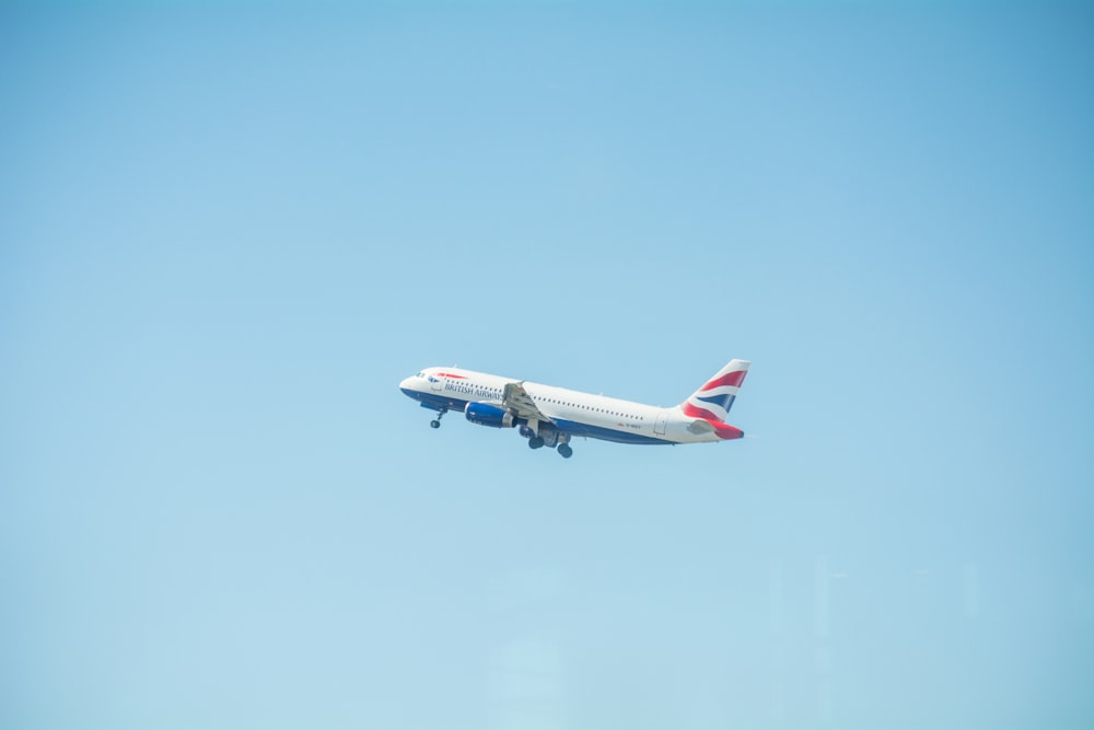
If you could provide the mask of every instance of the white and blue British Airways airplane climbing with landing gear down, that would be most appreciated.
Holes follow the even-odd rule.
[[[427,368],[399,383],[399,390],[437,412],[433,428],[441,427],[444,414],[457,410],[479,426],[515,428],[529,448],[556,449],[569,459],[573,437],[673,445],[742,438],[744,431],[725,418],[750,364],[731,360],[671,408],[459,368]]]

